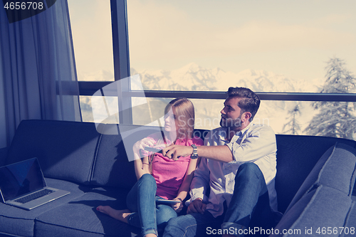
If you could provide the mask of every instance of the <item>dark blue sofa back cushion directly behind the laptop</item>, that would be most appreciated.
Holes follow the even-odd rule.
[[[6,164],[37,157],[45,177],[88,184],[99,137],[90,122],[23,120]]]

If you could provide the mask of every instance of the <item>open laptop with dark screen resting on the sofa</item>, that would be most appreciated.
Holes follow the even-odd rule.
[[[70,192],[48,187],[35,157],[0,167],[0,194],[5,204],[31,210]]]

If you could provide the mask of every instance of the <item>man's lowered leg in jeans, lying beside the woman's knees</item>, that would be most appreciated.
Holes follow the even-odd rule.
[[[221,216],[214,218],[209,211],[178,216],[168,221],[163,237],[209,236],[221,221]]]

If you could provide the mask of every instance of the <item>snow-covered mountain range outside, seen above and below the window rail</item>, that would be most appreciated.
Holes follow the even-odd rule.
[[[226,72],[220,68],[204,68],[196,63],[189,63],[176,70],[143,70],[136,71],[132,68],[131,75],[140,75],[141,82],[132,80],[132,88],[138,88],[135,83],[142,83],[144,90],[188,90],[188,91],[226,91],[230,86],[250,88],[255,92],[318,92],[323,85],[321,80],[313,81],[293,80],[285,75],[267,72],[266,70],[246,69],[239,73]],[[81,80],[112,80],[113,74],[108,71],[99,71],[90,75],[78,75]],[[140,87],[141,88],[141,87]],[[137,101],[135,101],[137,100]],[[144,98],[132,98],[132,103],[142,103]],[[148,121],[162,116],[168,98],[147,98],[149,106],[136,107],[133,110],[134,123],[148,124]],[[220,111],[223,100],[192,100],[196,110],[196,127],[213,129],[219,127]],[[91,107],[95,100],[88,97],[80,99],[85,121],[92,121],[90,110],[85,110],[85,105]],[[117,100],[116,100],[117,103]],[[288,111],[299,103],[301,115],[297,117],[302,130],[308,126],[315,115],[315,110],[310,107],[310,102],[295,101],[267,101],[262,100],[260,109],[253,120],[255,123],[271,125],[276,133],[283,132],[283,125],[288,122]],[[117,107],[117,105],[112,105]],[[88,116],[87,116],[88,115]]]

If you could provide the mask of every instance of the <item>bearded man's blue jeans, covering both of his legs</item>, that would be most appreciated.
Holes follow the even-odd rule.
[[[255,215],[251,219],[253,213]],[[248,233],[250,224],[267,229],[273,228],[276,222],[261,170],[256,164],[244,163],[236,174],[234,195],[229,208],[225,209],[222,216],[214,218],[209,211],[205,211],[204,214],[187,214],[172,218],[164,230],[164,237],[211,236],[215,231],[244,236],[244,233]]]

